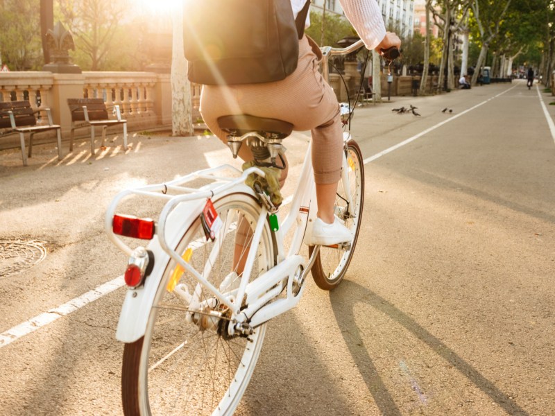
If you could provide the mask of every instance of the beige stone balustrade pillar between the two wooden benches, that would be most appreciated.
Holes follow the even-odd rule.
[[[53,73],[50,108],[54,123],[62,126],[62,135],[71,130],[71,113],[67,98],[83,98],[85,76],[75,73]]]

